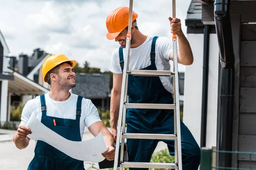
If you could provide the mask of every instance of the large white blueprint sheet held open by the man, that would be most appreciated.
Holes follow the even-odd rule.
[[[70,141],[42,124],[34,113],[30,116],[26,127],[32,131],[28,138],[44,141],[74,159],[90,162],[100,162],[105,159],[102,153],[107,149],[102,133],[87,141]]]

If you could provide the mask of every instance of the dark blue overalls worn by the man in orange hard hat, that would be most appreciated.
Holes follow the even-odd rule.
[[[142,70],[157,70],[155,65],[155,42],[151,44],[151,65]],[[120,65],[123,69],[123,53],[119,48]],[[122,70],[123,71],[123,70]],[[173,104],[172,93],[167,91],[159,77],[128,77],[129,103]],[[127,133],[162,133],[174,134],[174,111],[161,109],[127,109]],[[182,168],[198,170],[200,148],[189,129],[180,120]],[[129,161],[150,162],[154,149],[159,141],[167,144],[170,155],[175,154],[174,140],[127,139]],[[137,169],[137,168],[130,168]]]

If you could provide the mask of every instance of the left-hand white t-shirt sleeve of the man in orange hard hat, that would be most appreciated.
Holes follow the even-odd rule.
[[[121,69],[120,62],[119,62],[119,50],[118,49],[115,49],[111,54],[109,71],[116,73],[116,74],[122,74],[122,69]]]

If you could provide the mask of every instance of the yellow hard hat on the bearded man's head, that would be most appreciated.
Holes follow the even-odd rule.
[[[51,56],[47,57],[47,59],[44,60],[44,63],[42,66],[42,74],[43,74],[44,82],[47,82],[45,81],[45,76],[50,70],[52,70],[52,68],[55,68],[57,65],[67,61],[70,61],[72,63],[72,67],[76,65],[76,61],[70,60],[64,54],[52,54]]]

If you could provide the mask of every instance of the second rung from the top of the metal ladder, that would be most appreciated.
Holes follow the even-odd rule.
[[[125,103],[125,108],[137,109],[175,109],[175,104]]]

